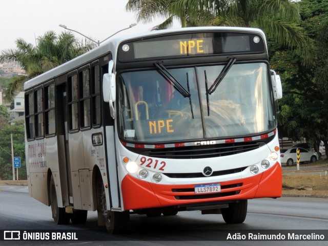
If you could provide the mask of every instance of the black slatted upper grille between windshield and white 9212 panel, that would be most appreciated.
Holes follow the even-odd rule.
[[[259,148],[265,143],[241,142],[215,145],[197,145],[161,149],[148,149],[140,154],[156,158],[199,159],[230,156]]]

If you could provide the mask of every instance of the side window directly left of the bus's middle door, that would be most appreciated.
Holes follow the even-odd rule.
[[[46,136],[56,133],[54,84],[45,86],[45,130]]]

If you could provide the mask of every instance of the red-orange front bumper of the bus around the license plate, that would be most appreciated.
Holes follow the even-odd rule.
[[[218,183],[221,185],[220,193],[195,194],[194,184],[156,184],[127,175],[121,183],[124,209],[136,210],[193,203],[281,197],[281,166],[277,162],[268,171],[258,175]]]

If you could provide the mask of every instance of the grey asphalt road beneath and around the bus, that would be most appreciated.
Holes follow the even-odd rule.
[[[78,232],[79,239],[83,239],[68,242],[0,240],[0,245],[263,245],[263,241],[226,239],[229,233],[275,234],[299,232],[297,230],[306,230],[301,232],[310,234],[324,233],[328,239],[328,199],[323,198],[249,200],[244,223],[232,225],[224,223],[221,215],[201,215],[198,211],[155,218],[131,215],[124,232],[109,235],[104,228],[97,226],[95,212],[89,212],[83,225],[55,225],[50,207],[29,197],[26,186],[0,186],[0,191],[0,230],[65,230]],[[328,241],[265,241],[265,245],[281,243],[308,246],[327,245]]]

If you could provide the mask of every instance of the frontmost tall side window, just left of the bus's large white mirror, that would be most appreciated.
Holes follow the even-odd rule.
[[[100,70],[99,65],[92,67],[92,125],[101,124]]]

